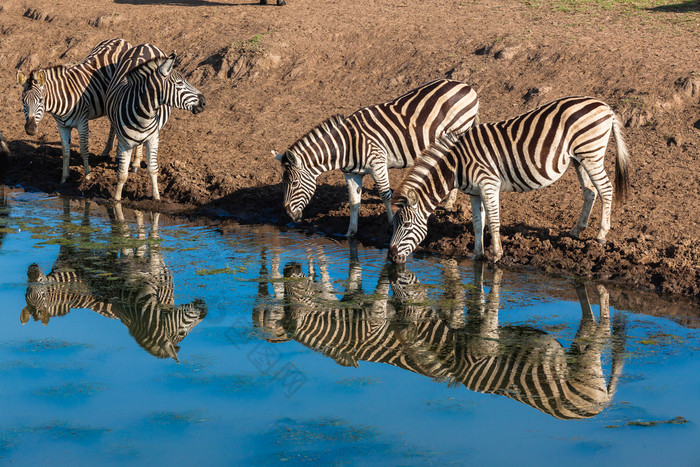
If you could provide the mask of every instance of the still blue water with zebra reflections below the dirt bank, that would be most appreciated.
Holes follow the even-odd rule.
[[[697,310],[3,193],[0,463],[700,463]]]

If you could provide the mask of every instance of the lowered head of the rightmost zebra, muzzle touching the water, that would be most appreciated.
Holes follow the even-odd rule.
[[[394,214],[389,259],[393,263],[405,263],[406,257],[428,234],[428,216],[420,208],[418,194],[412,188],[406,191],[405,196],[394,196],[393,204],[399,209]]]

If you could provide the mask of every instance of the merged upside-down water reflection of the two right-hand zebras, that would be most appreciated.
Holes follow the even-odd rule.
[[[259,307],[254,321],[271,342],[294,339],[343,366],[358,366],[360,360],[388,363],[450,386],[503,395],[559,419],[593,417],[611,402],[623,368],[624,321],[616,314],[611,335],[603,286],[597,286],[597,321],[585,287],[575,286],[582,315],[565,349],[545,331],[499,325],[500,269],[486,294],[480,263],[474,266],[472,288],[463,286],[455,262],[442,266],[443,294],[436,302],[415,274],[393,265],[382,270],[372,297],[362,295],[359,262],[351,260],[346,293],[341,303],[332,303],[318,298],[319,289],[328,296],[328,278],[316,282],[291,263],[284,268],[284,282],[274,282],[278,299],[282,285],[283,299]],[[606,381],[602,351],[611,340]]]

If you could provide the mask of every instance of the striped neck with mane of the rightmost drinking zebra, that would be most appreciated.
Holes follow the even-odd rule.
[[[409,204],[413,190],[431,211],[454,187],[456,157],[448,157],[459,140],[459,135],[449,132],[435,140],[416,159],[399,186],[394,190],[391,203],[396,206]],[[436,188],[438,191],[432,188]]]

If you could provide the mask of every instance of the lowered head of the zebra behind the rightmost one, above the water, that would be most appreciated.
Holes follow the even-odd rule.
[[[283,154],[277,154],[275,158],[282,163],[284,174],[282,185],[284,187],[284,209],[293,221],[301,219],[304,210],[311,197],[316,192],[316,178],[318,174],[304,167],[298,156],[287,150]]]

